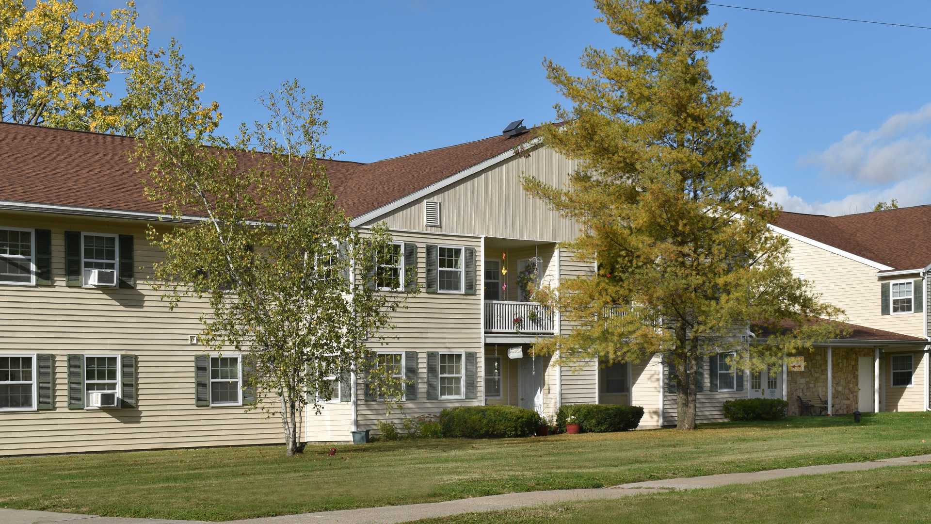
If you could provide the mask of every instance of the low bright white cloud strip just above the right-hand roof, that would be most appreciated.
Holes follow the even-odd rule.
[[[931,201],[931,170],[902,180],[893,186],[847,195],[839,200],[807,201],[789,193],[786,186],[768,186],[775,201],[786,211],[808,214],[852,214],[872,211],[878,201],[898,200],[899,207]]]

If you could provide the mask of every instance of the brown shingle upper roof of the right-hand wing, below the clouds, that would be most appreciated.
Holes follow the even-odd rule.
[[[783,212],[773,225],[894,269],[931,264],[931,205],[842,216]]]

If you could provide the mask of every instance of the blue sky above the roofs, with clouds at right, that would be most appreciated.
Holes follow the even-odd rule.
[[[931,26],[926,0],[722,3]],[[329,144],[358,161],[551,120],[560,98],[543,58],[577,69],[585,46],[622,43],[583,0],[140,4],[156,45],[182,42],[224,131],[262,117],[255,99],[297,77],[326,103]],[[931,31],[709,8],[708,23],[728,24],[715,82],[758,123],[752,161],[776,201],[824,214],[931,203]]]

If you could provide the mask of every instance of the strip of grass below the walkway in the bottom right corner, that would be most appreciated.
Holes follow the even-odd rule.
[[[588,522],[753,522],[845,524],[928,522],[931,466],[799,476],[711,490],[635,495],[612,501],[418,520],[417,524],[554,524]]]

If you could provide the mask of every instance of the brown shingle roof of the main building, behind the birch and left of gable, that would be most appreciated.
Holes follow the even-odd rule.
[[[365,214],[505,153],[533,138],[493,136],[370,164],[321,160],[338,203]],[[0,200],[159,213],[142,195],[144,173],[128,161],[135,141],[84,131],[0,123]],[[240,165],[254,160],[242,154]]]

